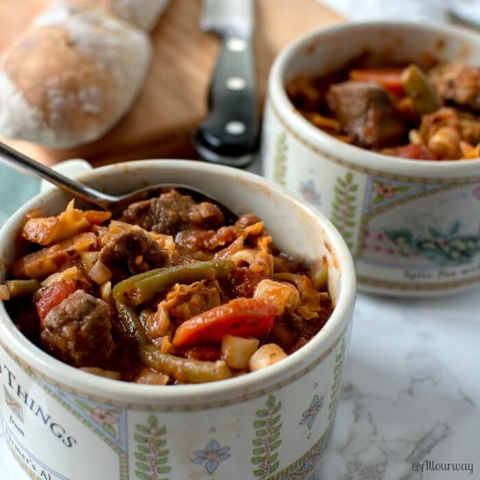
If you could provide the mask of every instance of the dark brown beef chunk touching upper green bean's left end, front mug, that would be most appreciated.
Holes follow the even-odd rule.
[[[147,272],[167,265],[169,253],[140,228],[113,235],[101,249],[99,261],[119,276],[126,267],[130,274]]]

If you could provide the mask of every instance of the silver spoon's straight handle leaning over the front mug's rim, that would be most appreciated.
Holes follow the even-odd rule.
[[[108,208],[108,204],[110,202],[115,202],[115,200],[117,200],[116,197],[106,195],[105,193],[91,189],[91,187],[87,187],[84,184],[75,182],[75,180],[71,180],[71,178],[68,178],[61,173],[58,173],[58,171],[55,171],[50,167],[37,162],[33,158],[22,154],[18,150],[5,145],[3,142],[0,142],[0,156],[3,157],[4,160],[8,161],[8,163],[34,173],[35,176],[43,178],[43,180],[47,180],[47,182],[53,183],[63,191],[66,191],[74,197],[80,198],[80,200],[84,200],[84,202],[89,204],[94,204],[100,208],[106,209]]]

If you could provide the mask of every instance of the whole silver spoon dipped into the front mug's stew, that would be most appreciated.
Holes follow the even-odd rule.
[[[202,197],[202,201],[215,202],[221,208],[228,221],[237,219],[237,215],[226,208],[226,206],[221,204],[218,200],[215,200],[215,198],[207,195],[203,191],[190,187],[189,185],[155,184],[117,197],[92,189],[87,185],[72,180],[71,178],[58,173],[58,171],[55,171],[50,167],[37,162],[33,158],[22,154],[18,150],[13,149],[2,142],[0,142],[0,156],[7,160],[8,163],[34,173],[35,176],[43,178],[43,180],[47,180],[47,182],[53,183],[74,197],[79,198],[88,204],[95,205],[102,210],[112,211],[114,214],[122,211],[123,208],[132,204],[133,202],[139,202],[151,197],[152,194],[159,189],[175,188],[182,189],[182,193],[187,193],[194,198],[199,197],[200,195],[200,197]]]

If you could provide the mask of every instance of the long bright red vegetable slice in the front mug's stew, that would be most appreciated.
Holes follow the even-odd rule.
[[[173,345],[220,344],[228,333],[237,337],[263,338],[280,313],[275,304],[261,298],[235,298],[182,323]]]

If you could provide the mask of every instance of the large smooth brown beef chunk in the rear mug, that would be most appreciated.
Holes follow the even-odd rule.
[[[359,145],[388,147],[405,134],[405,123],[383,86],[369,82],[333,84],[327,101],[343,130]]]

